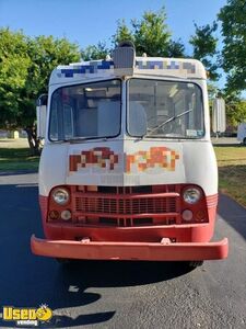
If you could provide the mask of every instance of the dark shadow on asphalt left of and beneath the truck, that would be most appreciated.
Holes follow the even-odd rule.
[[[73,307],[102,298],[98,293],[86,292],[87,288],[145,285],[188,272],[175,262],[74,261],[63,266],[52,259],[35,257],[30,250],[31,235],[43,236],[37,188],[0,185],[0,305],[38,308],[47,304],[55,315],[49,324],[39,327],[69,328],[114,317],[115,309],[91,314],[84,310],[73,316],[78,311]],[[0,320],[1,328],[13,325]]]

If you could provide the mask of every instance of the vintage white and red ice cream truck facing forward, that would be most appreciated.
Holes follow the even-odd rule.
[[[207,76],[195,59],[112,58],[58,66],[38,101],[35,254],[60,260],[224,259],[212,240],[218,168]]]

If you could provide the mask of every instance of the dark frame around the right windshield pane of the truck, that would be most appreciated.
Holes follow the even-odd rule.
[[[160,136],[156,136],[156,135],[148,135],[148,133],[141,137],[139,136],[134,136],[132,135],[130,132],[129,132],[129,103],[130,103],[130,81],[131,80],[151,80],[151,81],[162,81],[162,82],[173,82],[173,83],[192,83],[195,84],[199,91],[200,91],[200,103],[201,103],[201,115],[202,115],[202,118],[203,118],[203,122],[202,122],[202,135],[200,136],[168,136],[168,135],[160,135]],[[187,140],[197,140],[197,139],[202,139],[204,136],[206,136],[206,117],[204,117],[204,102],[203,102],[203,91],[202,91],[202,88],[201,86],[194,81],[194,80],[184,80],[184,79],[167,79],[167,78],[164,78],[162,79],[161,77],[132,77],[132,78],[129,78],[127,80],[127,83],[126,83],[126,92],[127,92],[127,110],[126,110],[126,133],[128,134],[129,137],[132,137],[132,138],[147,138],[147,139],[187,139]],[[187,110],[184,110],[183,113],[185,112],[190,112],[190,111],[187,111]],[[178,117],[178,115],[176,116]],[[176,117],[169,117],[171,121],[175,120]],[[169,122],[168,120],[168,122]]]

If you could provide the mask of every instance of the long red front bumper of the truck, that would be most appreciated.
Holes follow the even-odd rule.
[[[32,252],[39,256],[86,260],[199,261],[224,259],[229,242],[108,242],[31,238]]]

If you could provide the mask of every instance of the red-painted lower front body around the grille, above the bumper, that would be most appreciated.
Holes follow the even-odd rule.
[[[160,201],[163,198],[163,195],[169,194],[178,194],[181,193],[181,188],[184,185],[156,185],[152,186],[152,191],[154,195],[162,195]],[[73,190],[79,191],[80,189],[75,186],[66,186],[67,189],[70,188],[71,195],[73,194]],[[84,186],[85,189],[86,186]],[[117,188],[118,189],[118,188]],[[120,188],[121,190],[124,188]],[[129,191],[129,188],[126,192]],[[163,192],[165,191],[165,192]],[[171,192],[172,191],[172,192]],[[175,191],[175,192],[174,192]],[[126,193],[125,192],[125,193]],[[179,192],[179,193],[178,193]],[[77,195],[79,192],[74,192]],[[87,195],[92,195],[97,197],[97,194],[104,194],[98,192],[89,192],[86,189],[84,192],[80,192],[80,195],[84,195],[87,200]],[[112,196],[116,196],[112,193],[105,193],[108,198]],[[106,197],[104,194],[104,197]],[[125,200],[128,200],[133,196],[142,196],[144,195],[147,200],[155,200],[149,198],[150,193],[140,194],[140,193],[128,193],[122,194]],[[127,198],[127,196],[129,198]],[[118,195],[117,195],[118,197]],[[181,223],[181,212],[184,207],[187,208],[187,205],[183,205],[180,202],[180,197],[175,197],[176,203],[176,212],[168,212],[168,208],[159,207],[156,213],[147,213],[144,212],[144,207],[141,207],[140,211],[143,209],[139,214],[139,211],[136,213],[131,213],[131,215],[127,212],[128,207],[120,214],[118,214],[118,208],[112,208],[114,212],[110,213],[102,212],[101,206],[89,207],[89,212],[84,212],[83,207],[81,211],[79,208],[75,212],[74,205],[74,197],[71,197],[72,201],[69,205],[66,206],[58,206],[55,205],[52,200],[48,198],[47,196],[39,196],[40,209],[42,209],[42,217],[43,217],[43,226],[45,230],[45,236],[49,239],[66,239],[66,240],[74,240],[78,237],[90,237],[94,241],[159,241],[161,237],[167,237],[174,239],[176,242],[204,242],[210,241],[213,236],[214,230],[214,220],[216,215],[216,200],[218,194],[210,195],[203,198],[199,205],[190,206],[189,208],[196,214],[197,211],[202,209],[206,213],[206,220],[192,223]],[[49,200],[49,205],[48,205]],[[112,198],[114,201],[114,198]],[[142,200],[142,198],[141,198]],[[159,200],[159,198],[157,198]],[[129,205],[127,201],[127,204]],[[144,201],[145,202],[145,201]],[[95,203],[96,204],[96,203]],[[162,204],[162,203],[161,203]],[[133,205],[133,203],[131,204]],[[148,203],[148,205],[150,205]],[[153,209],[153,204],[151,204]],[[117,206],[121,206],[121,203]],[[160,203],[156,204],[160,206]],[[72,211],[72,220],[61,220],[61,219],[48,219],[48,207],[49,209],[56,209],[59,213],[65,208],[70,208]],[[98,213],[95,213],[95,209],[98,208]],[[125,207],[124,207],[125,208]],[[136,211],[132,206],[129,207],[130,211]],[[163,211],[167,211],[163,213]],[[171,208],[169,208],[171,209]],[[86,218],[91,218],[87,220]],[[113,220],[113,222],[110,222]],[[155,229],[153,229],[155,228]]]

